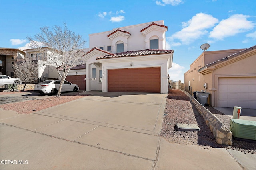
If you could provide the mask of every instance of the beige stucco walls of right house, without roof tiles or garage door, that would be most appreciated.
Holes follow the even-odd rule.
[[[185,90],[193,95],[194,91],[204,90],[210,93],[208,103],[217,107],[218,95],[218,78],[219,77],[246,77],[256,76],[256,56],[255,50],[252,50],[238,57],[221,62],[214,66],[208,67],[206,72],[202,74],[197,70],[243,49],[222,50],[222,51],[204,51],[191,65],[190,70],[184,73]],[[190,81],[190,91],[188,91],[188,82]],[[208,88],[204,88],[204,83],[207,83]],[[192,89],[191,89],[192,88]]]

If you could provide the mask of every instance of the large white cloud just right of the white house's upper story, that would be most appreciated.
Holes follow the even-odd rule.
[[[171,41],[179,39],[183,44],[190,44],[208,33],[206,29],[214,27],[218,19],[211,15],[198,13],[187,22],[182,22],[183,29],[168,37]]]

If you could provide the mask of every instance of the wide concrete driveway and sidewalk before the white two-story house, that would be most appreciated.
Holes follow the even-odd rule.
[[[27,115],[1,111],[0,169],[242,169],[224,148],[158,136],[165,102],[102,92]]]

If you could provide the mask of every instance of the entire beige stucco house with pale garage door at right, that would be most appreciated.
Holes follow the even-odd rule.
[[[255,64],[256,46],[204,51],[184,73],[185,89],[190,94],[201,90],[209,92],[209,104],[214,107],[256,109]]]

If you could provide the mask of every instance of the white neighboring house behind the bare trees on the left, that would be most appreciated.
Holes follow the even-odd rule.
[[[45,53],[51,53],[47,47],[44,48]],[[47,78],[58,78],[58,71],[56,65],[49,64],[45,53],[38,52],[37,49],[26,49],[26,57],[32,58],[33,61],[38,62],[38,78],[42,81]]]

